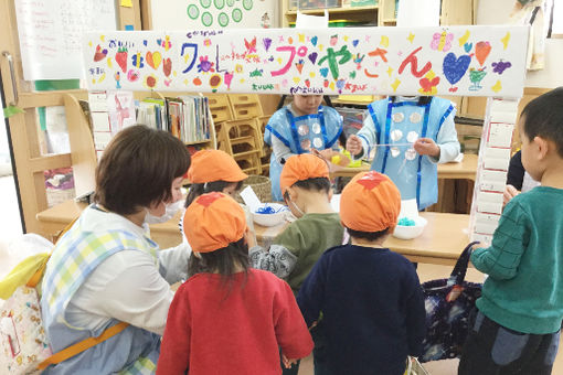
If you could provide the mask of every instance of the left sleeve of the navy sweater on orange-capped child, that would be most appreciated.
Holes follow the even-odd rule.
[[[297,294],[297,303],[301,309],[307,326],[311,326],[311,324],[319,319],[320,312],[322,311],[326,282],[326,258],[327,256],[322,255],[315,264]]]

